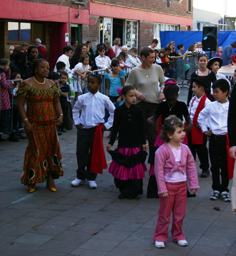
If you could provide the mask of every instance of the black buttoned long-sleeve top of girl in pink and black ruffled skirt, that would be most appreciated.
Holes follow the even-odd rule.
[[[119,147],[139,147],[146,144],[143,110],[136,105],[127,108],[124,104],[114,112],[112,135],[109,144],[113,145],[118,134]],[[140,145],[141,144],[141,145]]]

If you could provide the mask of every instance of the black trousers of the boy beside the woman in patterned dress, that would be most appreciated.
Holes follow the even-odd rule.
[[[91,155],[94,139],[95,127],[77,130],[76,156],[78,169],[76,170],[77,179],[95,181],[97,174],[91,173]],[[87,167],[87,168],[86,168]]]

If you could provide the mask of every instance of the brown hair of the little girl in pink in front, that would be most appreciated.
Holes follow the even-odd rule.
[[[168,137],[168,134],[173,135],[177,127],[183,127],[183,123],[176,115],[173,114],[166,117],[165,122],[162,125],[161,139],[165,142],[169,142],[170,138]]]

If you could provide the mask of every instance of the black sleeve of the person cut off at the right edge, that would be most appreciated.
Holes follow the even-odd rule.
[[[228,113],[228,134],[230,146],[236,146],[236,83],[233,87],[230,97]]]

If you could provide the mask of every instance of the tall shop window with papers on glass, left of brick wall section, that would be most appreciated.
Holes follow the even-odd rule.
[[[138,48],[138,22],[126,20],[125,22],[125,45],[128,48]]]

